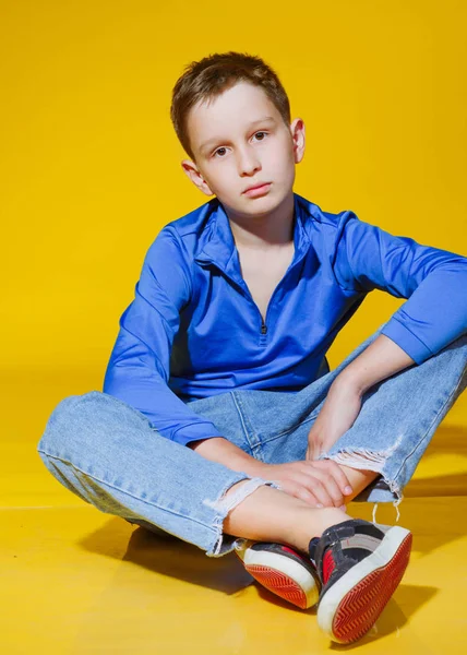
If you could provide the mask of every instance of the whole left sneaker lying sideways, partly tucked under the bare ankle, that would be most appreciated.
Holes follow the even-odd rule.
[[[237,539],[236,553],[266,590],[300,609],[316,605],[320,577],[313,562],[290,546]]]

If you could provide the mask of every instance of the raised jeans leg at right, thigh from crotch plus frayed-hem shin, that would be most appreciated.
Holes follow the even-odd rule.
[[[327,391],[346,366],[372,343],[374,334],[335,370],[296,394],[270,391],[231,392],[242,417],[249,452],[266,463],[303,460],[308,433]],[[354,480],[370,485],[357,501],[398,504],[403,489],[431,437],[467,385],[467,335],[421,365],[399,371],[363,395],[354,426],[320,458],[332,458]]]

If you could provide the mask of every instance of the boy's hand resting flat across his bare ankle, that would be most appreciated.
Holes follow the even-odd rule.
[[[278,483],[280,490],[304,500],[313,508],[344,508],[351,485],[342,468],[332,460],[307,460],[287,464],[263,464],[261,476]]]

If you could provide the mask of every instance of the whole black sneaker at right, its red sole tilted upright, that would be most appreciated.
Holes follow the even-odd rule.
[[[352,519],[310,541],[322,582],[318,624],[333,641],[348,644],[375,623],[399,584],[412,535],[399,526]]]

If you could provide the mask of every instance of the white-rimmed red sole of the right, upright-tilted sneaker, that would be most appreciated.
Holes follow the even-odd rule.
[[[392,527],[374,552],[323,595],[318,607],[323,632],[337,643],[348,644],[372,628],[403,579],[411,543],[408,529]]]

